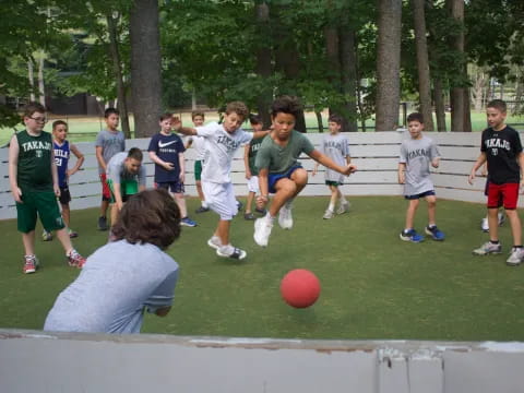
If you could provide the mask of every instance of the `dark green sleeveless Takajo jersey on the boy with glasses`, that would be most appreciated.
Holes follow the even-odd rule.
[[[51,134],[41,131],[38,136],[33,136],[24,130],[16,134],[16,141],[20,147],[16,171],[19,187],[29,191],[52,191]]]

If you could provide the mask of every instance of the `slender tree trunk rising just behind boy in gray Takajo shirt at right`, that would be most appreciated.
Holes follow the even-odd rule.
[[[417,51],[418,68],[418,95],[420,99],[420,112],[424,117],[424,129],[433,131],[433,110],[431,106],[431,79],[429,75],[428,44],[426,40],[426,0],[412,0],[413,16],[415,24],[415,45]]]

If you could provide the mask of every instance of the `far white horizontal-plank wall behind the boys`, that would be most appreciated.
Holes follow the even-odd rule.
[[[467,175],[473,163],[479,154],[480,134],[463,132],[428,132],[434,139],[442,155],[441,165],[433,170],[433,182],[437,195],[440,199],[485,202],[484,178],[477,178],[474,186],[467,182]],[[321,133],[308,133],[308,138],[315,146],[322,140]],[[353,162],[358,166],[358,171],[347,178],[343,192],[348,195],[401,195],[402,186],[397,183],[397,162],[400,143],[404,138],[409,138],[406,131],[397,132],[357,132],[348,133],[349,148]],[[127,148],[136,146],[146,150],[148,139],[128,140]],[[85,155],[83,170],[70,179],[70,190],[73,201],[71,209],[87,209],[99,205],[100,184],[98,180],[97,164],[94,142],[76,144]],[[196,195],[193,176],[193,154],[189,148],[187,157],[186,193]],[[243,150],[240,148],[234,159],[231,178],[238,195],[247,193]],[[154,166],[147,154],[144,154],[144,165],[147,169],[147,186],[153,186]],[[74,162],[74,157],[72,158]],[[11,196],[8,179],[8,148],[0,148],[0,219],[16,216],[14,202]],[[303,167],[312,170],[314,162],[307,156],[301,157]],[[309,177],[309,184],[302,191],[305,195],[327,195],[329,190],[324,184],[323,168],[314,177]],[[520,205],[524,205],[521,198]]]

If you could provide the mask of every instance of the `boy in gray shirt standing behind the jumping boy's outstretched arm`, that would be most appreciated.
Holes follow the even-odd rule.
[[[352,157],[349,156],[349,143],[347,138],[341,134],[342,117],[338,115],[331,115],[327,124],[330,127],[330,133],[322,139],[320,151],[338,165],[349,165],[352,163]],[[311,176],[317,175],[319,163],[315,163]],[[343,175],[329,168],[325,170],[325,184],[330,188],[331,199],[323,218],[329,219],[335,216],[335,204],[337,200],[340,202],[336,214],[343,214],[349,209],[349,202],[338,187],[343,183]]]

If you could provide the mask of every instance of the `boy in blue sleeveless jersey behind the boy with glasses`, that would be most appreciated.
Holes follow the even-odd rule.
[[[75,144],[69,143],[67,140],[68,123],[66,121],[57,120],[52,123],[52,136],[55,164],[57,165],[58,170],[58,187],[60,188],[60,196],[58,198],[58,201],[62,207],[62,217],[68,228],[69,237],[75,238],[79,234],[72,230],[70,226],[71,210],[69,209],[69,202],[71,202],[71,193],[69,192],[69,177],[80,170],[80,167],[84,163],[84,155],[79,151]],[[68,165],[71,153],[76,157],[76,163],[71,169],[69,169]],[[41,238],[44,241],[49,241],[52,239],[52,235],[44,229]]]

